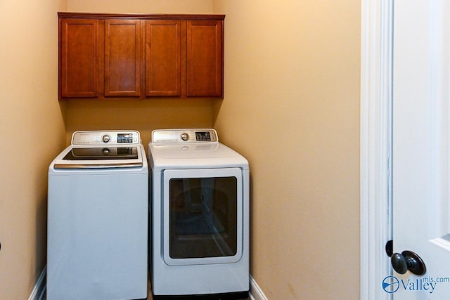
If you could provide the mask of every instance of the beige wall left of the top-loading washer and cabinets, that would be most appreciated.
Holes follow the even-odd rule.
[[[63,8],[59,0],[0,3],[0,299],[28,299],[45,266],[47,168],[65,145],[57,90]]]

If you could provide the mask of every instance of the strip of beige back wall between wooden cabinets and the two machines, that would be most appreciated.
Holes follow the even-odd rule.
[[[67,143],[77,130],[133,129],[139,130],[147,145],[153,129],[211,127],[213,103],[202,99],[70,101],[66,103]]]

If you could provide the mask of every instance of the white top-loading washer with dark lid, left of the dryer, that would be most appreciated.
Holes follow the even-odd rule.
[[[46,297],[142,299],[148,163],[138,131],[77,131],[49,167]]]

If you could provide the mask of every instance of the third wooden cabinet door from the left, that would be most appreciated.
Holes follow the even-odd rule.
[[[146,96],[180,96],[180,21],[146,21]]]

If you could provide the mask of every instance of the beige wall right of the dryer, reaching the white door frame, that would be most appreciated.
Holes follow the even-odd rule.
[[[214,126],[250,161],[251,273],[269,299],[359,299],[360,10],[214,0],[226,14]]]

